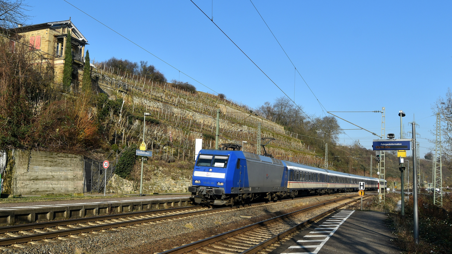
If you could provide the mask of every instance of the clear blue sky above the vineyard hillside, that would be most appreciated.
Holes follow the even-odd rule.
[[[283,96],[213,23],[189,0],[85,1],[68,0],[125,37],[179,70],[256,107]],[[212,0],[194,0],[209,16]],[[112,56],[147,60],[170,79],[179,71],[133,45],[63,0],[30,1],[30,22],[72,17],[88,39],[90,57]],[[451,2],[448,1],[258,1],[254,5],[328,111],[374,111],[386,107],[386,134],[400,135],[404,122],[420,125],[422,138],[431,139],[435,118],[431,106],[451,80]],[[51,9],[49,9],[51,8]],[[310,115],[325,115],[297,76],[284,52],[249,0],[213,0],[213,20]],[[198,90],[208,89],[187,76]],[[338,113],[380,134],[379,113]],[[342,128],[354,129],[342,120]],[[411,128],[405,125],[405,131]],[[340,142],[358,140],[367,148],[375,136],[349,130]],[[421,156],[431,147],[421,142]]]

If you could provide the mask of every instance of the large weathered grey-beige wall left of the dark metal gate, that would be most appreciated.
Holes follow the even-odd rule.
[[[83,192],[83,156],[14,150],[10,194]]]

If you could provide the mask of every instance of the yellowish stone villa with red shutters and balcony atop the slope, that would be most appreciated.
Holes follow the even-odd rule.
[[[71,89],[77,89],[83,75],[85,63],[86,38],[71,22],[71,19],[58,22],[20,26],[12,29],[16,34],[30,43],[30,49],[40,50],[45,59],[50,60],[55,68],[55,83],[62,83],[66,46],[72,50]],[[71,31],[71,45],[66,45],[67,31]]]

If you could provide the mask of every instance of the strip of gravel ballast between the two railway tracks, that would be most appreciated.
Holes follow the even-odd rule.
[[[153,254],[348,195],[351,194],[314,196],[290,202],[268,203],[262,206],[167,220],[151,226],[134,226],[136,228],[101,234],[89,233],[89,236],[66,241],[58,240],[57,243],[46,242],[42,245],[28,243],[23,244],[27,245],[24,249],[7,247],[13,249],[9,253],[18,254]],[[240,218],[240,215],[253,217],[246,219]]]

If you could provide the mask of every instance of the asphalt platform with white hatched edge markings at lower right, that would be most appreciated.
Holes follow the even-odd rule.
[[[269,254],[399,254],[385,212],[339,210]]]

